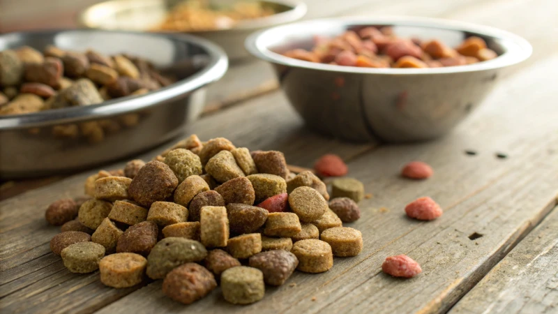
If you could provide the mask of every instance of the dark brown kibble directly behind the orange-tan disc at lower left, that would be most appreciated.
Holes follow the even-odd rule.
[[[151,249],[157,244],[159,228],[153,221],[144,221],[126,229],[118,239],[116,252],[137,253],[143,256],[149,255]]]

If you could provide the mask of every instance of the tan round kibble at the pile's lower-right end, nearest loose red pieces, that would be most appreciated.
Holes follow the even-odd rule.
[[[359,255],[362,251],[362,234],[350,227],[334,227],[324,230],[319,237],[331,246],[333,255],[347,257]]]

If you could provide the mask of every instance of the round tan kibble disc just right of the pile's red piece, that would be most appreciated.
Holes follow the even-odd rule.
[[[319,192],[308,186],[295,188],[289,194],[289,205],[303,223],[310,223],[324,216],[327,201]]]

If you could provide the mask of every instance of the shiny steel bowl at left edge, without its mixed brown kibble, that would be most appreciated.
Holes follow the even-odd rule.
[[[22,45],[43,50],[50,44],[64,50],[93,48],[105,54],[144,57],[158,68],[170,69],[179,81],[99,105],[0,116],[3,179],[80,170],[155,147],[178,135],[187,121],[199,115],[204,107],[203,87],[227,70],[225,52],[193,36],[89,30],[0,36],[0,50]],[[87,126],[96,124],[103,126],[103,132],[82,136]]]

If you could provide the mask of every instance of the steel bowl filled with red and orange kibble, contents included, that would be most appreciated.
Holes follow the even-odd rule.
[[[354,142],[440,137],[482,103],[527,40],[424,17],[309,20],[252,34],[306,124]]]

